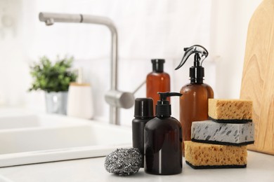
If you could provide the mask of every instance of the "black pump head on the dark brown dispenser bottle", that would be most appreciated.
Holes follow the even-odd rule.
[[[157,92],[160,99],[156,105],[156,117],[169,117],[171,116],[171,105],[167,100],[167,97],[181,96],[181,93],[176,92]]]

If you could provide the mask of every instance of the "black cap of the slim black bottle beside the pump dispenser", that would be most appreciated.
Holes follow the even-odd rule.
[[[153,118],[153,99],[136,98],[134,106],[134,117]]]

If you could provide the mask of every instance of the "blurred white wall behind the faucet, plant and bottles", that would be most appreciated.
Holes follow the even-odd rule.
[[[115,22],[119,36],[119,90],[132,92],[152,70],[150,59],[164,58],[171,91],[189,82],[189,60],[174,71],[183,48],[209,50],[205,83],[216,98],[239,98],[249,19],[261,0],[0,0],[0,105],[44,111],[44,92],[27,92],[29,66],[46,55],[73,55],[93,87],[96,119],[107,122],[110,89],[110,31],[98,25],[39,22],[41,11],[102,15]],[[145,86],[136,93],[145,97]],[[172,101],[178,117],[178,98]],[[133,108],[122,109],[122,125],[131,125]]]

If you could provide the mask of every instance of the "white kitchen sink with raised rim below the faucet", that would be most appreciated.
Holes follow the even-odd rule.
[[[5,123],[1,123],[2,118],[0,128]],[[30,125],[20,123],[0,130],[0,167],[93,158],[105,156],[115,148],[132,146],[130,127],[46,114],[11,117],[6,121]]]

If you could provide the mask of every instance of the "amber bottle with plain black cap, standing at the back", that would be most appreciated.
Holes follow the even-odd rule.
[[[170,77],[164,72],[164,59],[152,59],[152,72],[146,79],[147,97],[153,99],[153,113],[155,115],[155,106],[159,95],[157,92],[170,92]],[[170,99],[168,98],[169,102]]]

